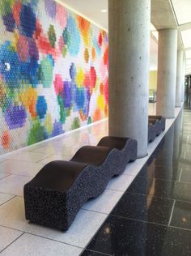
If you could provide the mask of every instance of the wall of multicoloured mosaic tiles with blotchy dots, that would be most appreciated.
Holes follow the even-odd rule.
[[[1,0],[0,155],[107,116],[107,33],[53,0]]]

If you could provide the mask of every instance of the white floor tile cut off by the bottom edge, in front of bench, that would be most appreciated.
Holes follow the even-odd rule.
[[[51,241],[42,237],[36,237],[30,234],[23,234],[6,250],[3,250],[2,256],[78,256],[83,249],[65,245],[58,241]]]

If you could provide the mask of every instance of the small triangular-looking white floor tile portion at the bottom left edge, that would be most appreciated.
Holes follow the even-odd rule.
[[[22,235],[23,232],[14,230],[11,228],[4,228],[0,226],[0,253],[6,246],[10,245],[11,242],[15,241],[17,237]],[[1,254],[2,255],[2,254]],[[11,255],[11,254],[10,254]]]

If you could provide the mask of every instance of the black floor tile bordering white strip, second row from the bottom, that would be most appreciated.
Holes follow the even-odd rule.
[[[168,225],[174,200],[125,193],[111,215]]]

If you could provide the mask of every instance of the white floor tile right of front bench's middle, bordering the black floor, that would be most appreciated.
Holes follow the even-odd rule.
[[[83,209],[109,214],[123,192],[114,190],[104,190],[98,198],[91,199],[83,205]]]

